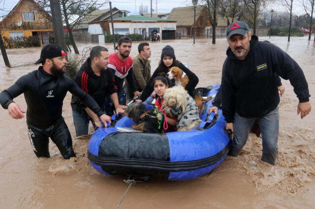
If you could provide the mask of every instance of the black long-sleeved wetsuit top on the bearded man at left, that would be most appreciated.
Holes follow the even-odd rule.
[[[0,94],[0,103],[7,109],[13,98],[24,93],[28,109],[26,121],[35,127],[50,127],[62,118],[63,99],[69,91],[92,109],[97,116],[103,112],[93,98],[82,91],[75,82],[66,76],[53,76],[42,66],[38,70],[19,78],[11,87]]]

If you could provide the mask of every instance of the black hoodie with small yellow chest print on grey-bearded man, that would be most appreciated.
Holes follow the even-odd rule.
[[[227,123],[233,122],[235,111],[250,118],[263,116],[275,109],[280,102],[277,74],[290,80],[300,103],[309,101],[308,84],[302,69],[274,44],[260,42],[257,36],[252,35],[250,51],[244,60],[237,59],[230,48],[226,55],[221,95]]]

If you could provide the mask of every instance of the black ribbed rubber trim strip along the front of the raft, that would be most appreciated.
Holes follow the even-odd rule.
[[[126,168],[145,168],[158,170],[163,172],[180,172],[180,171],[190,171],[198,168],[204,168],[211,166],[221,160],[227,155],[231,146],[231,140],[229,143],[216,155],[197,159],[190,161],[179,161],[179,162],[167,162],[159,160],[150,159],[122,159],[116,157],[97,157],[90,152],[88,152],[88,158],[95,165],[100,166],[116,166],[116,167],[126,167]]]

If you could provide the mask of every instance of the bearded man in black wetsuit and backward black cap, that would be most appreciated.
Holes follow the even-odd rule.
[[[0,104],[14,119],[24,117],[24,109],[13,99],[24,93],[27,103],[26,122],[33,151],[37,157],[50,157],[49,137],[57,145],[64,159],[75,157],[71,135],[62,116],[63,99],[69,91],[92,109],[106,125],[106,116],[95,100],[64,76],[65,53],[56,44],[41,50],[38,70],[19,78],[11,87],[0,93]]]

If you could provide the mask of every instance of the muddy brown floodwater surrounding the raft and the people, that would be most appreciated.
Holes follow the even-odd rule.
[[[314,37],[312,37],[313,40]],[[297,61],[307,78],[311,103],[315,96],[315,43],[307,37],[261,37],[275,43]],[[139,43],[133,43],[131,56]],[[221,82],[225,39],[199,39],[150,43],[152,69],[158,65],[162,48],[171,45],[178,60],[188,63],[199,77],[198,86]],[[80,51],[93,45],[80,45]],[[113,52],[113,45],[106,44]],[[35,62],[40,48],[7,50],[13,66]],[[38,66],[5,68],[0,58],[0,91]],[[261,138],[250,134],[241,155],[226,157],[212,174],[186,182],[155,181],[132,185],[121,209],[208,209],[208,208],[314,208],[315,206],[315,111],[301,120],[298,100],[289,81],[280,103],[279,156],[275,166],[260,161]],[[63,105],[63,117],[75,136],[70,107],[71,95]],[[15,99],[26,109],[23,95]],[[33,154],[26,119],[14,120],[0,108],[0,208],[109,208],[113,209],[127,188],[123,177],[108,177],[95,171],[87,159],[90,136],[73,137],[76,158],[63,160],[50,142],[50,158]]]

